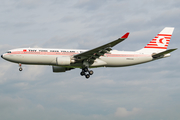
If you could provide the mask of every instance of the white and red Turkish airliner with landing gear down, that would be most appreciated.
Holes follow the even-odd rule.
[[[173,27],[165,27],[144,48],[137,51],[112,50],[112,47],[128,38],[127,32],[121,38],[91,50],[18,48],[9,50],[1,57],[18,63],[19,71],[23,70],[22,64],[50,65],[53,72],[80,68],[82,69],[80,75],[88,79],[94,73],[89,68],[124,67],[169,57],[170,52],[177,49],[167,50],[173,31]]]

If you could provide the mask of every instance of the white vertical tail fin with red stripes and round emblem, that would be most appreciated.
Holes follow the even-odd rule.
[[[165,27],[143,49],[139,50],[139,52],[153,53],[165,51],[169,45],[173,31],[173,27]]]

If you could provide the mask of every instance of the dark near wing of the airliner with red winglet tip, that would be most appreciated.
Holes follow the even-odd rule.
[[[124,34],[121,38],[114,40],[110,43],[107,43],[105,45],[102,45],[100,47],[88,50],[86,52],[74,55],[74,58],[77,61],[82,61],[82,60],[87,60],[87,61],[91,61],[94,62],[94,60],[96,58],[99,58],[100,56],[104,55],[105,53],[108,53],[109,51],[111,51],[111,47],[117,45],[118,43],[122,42],[123,40],[125,40],[128,37],[129,33]]]

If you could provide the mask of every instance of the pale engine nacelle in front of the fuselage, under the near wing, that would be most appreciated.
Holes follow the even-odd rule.
[[[61,56],[56,58],[56,65],[70,65],[74,63],[74,60],[71,59],[70,56]]]

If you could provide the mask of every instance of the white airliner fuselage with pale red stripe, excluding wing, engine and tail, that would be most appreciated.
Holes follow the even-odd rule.
[[[13,49],[3,54],[3,58],[21,64],[32,65],[57,65],[57,57],[72,56],[85,52],[78,49],[45,49],[45,48],[20,48]],[[89,67],[123,67],[152,61],[151,54],[140,52],[127,52],[112,50],[97,58]],[[59,65],[58,65],[59,66]],[[63,66],[63,65],[62,65]],[[65,65],[67,66],[67,65]],[[72,63],[67,67],[81,68],[81,63]]]

